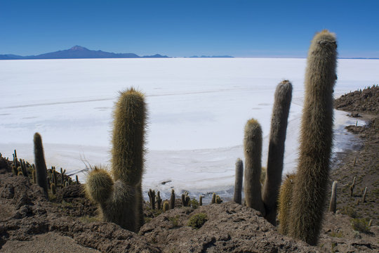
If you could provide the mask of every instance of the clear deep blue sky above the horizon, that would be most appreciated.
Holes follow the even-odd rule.
[[[315,32],[340,57],[379,57],[379,0],[0,0],[0,54],[79,45],[167,56],[306,57]]]

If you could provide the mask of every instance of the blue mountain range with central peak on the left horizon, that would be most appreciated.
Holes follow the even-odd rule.
[[[85,59],[85,58],[169,58],[156,54],[154,56],[138,56],[135,53],[109,53],[101,50],[89,50],[83,46],[73,46],[67,50],[52,53],[43,53],[38,56],[15,56],[12,54],[0,55],[0,60],[21,59]]]

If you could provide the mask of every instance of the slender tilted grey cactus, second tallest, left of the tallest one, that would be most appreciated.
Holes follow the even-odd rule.
[[[262,193],[262,201],[266,211],[265,219],[273,225],[277,223],[277,199],[281,172],[283,171],[284,142],[286,141],[291,98],[291,82],[285,80],[278,84],[274,95],[274,107],[272,108],[267,171]]]

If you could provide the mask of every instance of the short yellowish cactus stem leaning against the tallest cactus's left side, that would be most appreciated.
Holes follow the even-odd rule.
[[[289,214],[292,205],[293,183],[295,174],[286,175],[279,191],[279,232],[288,234]]]

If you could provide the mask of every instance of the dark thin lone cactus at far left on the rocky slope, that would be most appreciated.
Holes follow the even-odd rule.
[[[44,188],[44,193],[48,196],[47,169],[41,135],[39,133],[35,133],[33,141],[34,164],[36,164],[36,183]]]

